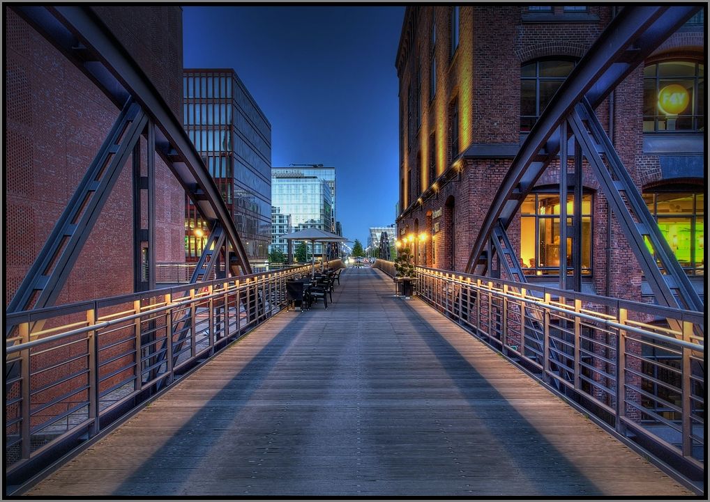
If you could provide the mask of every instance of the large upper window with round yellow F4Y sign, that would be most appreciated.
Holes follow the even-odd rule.
[[[643,132],[705,130],[705,66],[664,61],[643,69]]]

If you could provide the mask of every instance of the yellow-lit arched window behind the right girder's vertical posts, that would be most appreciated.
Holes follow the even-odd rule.
[[[591,194],[581,199],[581,273],[591,274]],[[572,225],[574,196],[567,196],[567,225]],[[525,197],[520,208],[520,261],[530,275],[559,276],[559,194]],[[572,272],[572,237],[567,237],[567,266]]]

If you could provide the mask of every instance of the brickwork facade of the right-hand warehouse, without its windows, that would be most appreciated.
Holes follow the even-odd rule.
[[[449,57],[453,7],[410,7],[405,13],[395,66],[400,80],[400,208],[398,236],[430,235],[426,264],[462,271],[491,201],[503,180],[520,133],[520,67],[545,57],[579,59],[611,21],[611,6],[589,6],[583,15],[568,15],[563,6],[551,13],[531,14],[527,6],[462,6],[459,46]],[[436,22],[437,91],[430,101],[431,30]],[[695,57],[704,60],[702,26],[684,26],[649,59]],[[410,134],[410,112],[421,67],[421,126]],[[663,179],[658,155],[644,153],[643,68],[639,67],[603,101],[596,113],[634,182],[640,189]],[[452,152],[451,104],[458,101],[459,147]],[[611,112],[611,113],[610,113]],[[610,127],[610,115],[613,123]],[[435,177],[428,172],[430,138],[435,133]],[[696,133],[701,135],[702,133]],[[476,147],[498,147],[506,154],[474,155]],[[468,151],[467,151],[468,150]],[[693,152],[702,155],[702,152]],[[470,155],[469,155],[470,154]],[[679,152],[682,154],[682,152]],[[422,161],[417,162],[419,159]],[[572,162],[570,160],[570,162]],[[411,172],[411,175],[410,175]],[[437,178],[432,186],[431,180]],[[584,162],[585,190],[593,194],[592,276],[597,294],[641,299],[641,272],[626,245],[616,218],[607,235],[608,206],[599,184]],[[419,183],[415,181],[419,180]],[[694,180],[704,186],[704,177]],[[552,162],[536,186],[559,186],[559,160]],[[704,190],[703,190],[704,191]],[[520,249],[520,218],[508,229]],[[430,248],[434,247],[434,252]],[[453,258],[453,260],[452,260]],[[423,260],[423,258],[422,258]],[[420,262],[422,262],[420,260]],[[623,279],[622,279],[623,278]],[[608,279],[608,281],[607,281]],[[548,281],[555,283],[557,277]],[[608,289],[607,289],[608,288]]]

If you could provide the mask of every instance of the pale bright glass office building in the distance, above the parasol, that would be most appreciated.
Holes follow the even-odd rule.
[[[271,169],[272,211],[290,216],[294,232],[305,228],[320,228],[331,232],[334,228],[332,186],[335,181],[324,179],[320,176],[322,173],[321,169],[300,167]],[[278,246],[284,254],[288,253],[285,242],[272,241],[271,246],[272,249]],[[315,254],[320,255],[322,252],[322,245],[317,243]]]

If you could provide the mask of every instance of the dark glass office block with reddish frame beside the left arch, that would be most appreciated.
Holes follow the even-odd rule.
[[[271,242],[271,123],[234,69],[185,69],[185,130],[214,177],[255,267]],[[185,197],[185,255],[196,262],[207,233]]]

